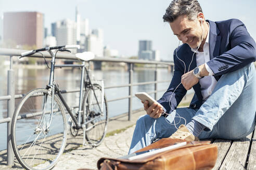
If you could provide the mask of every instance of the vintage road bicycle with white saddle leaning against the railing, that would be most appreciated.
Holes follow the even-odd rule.
[[[78,135],[83,130],[83,145],[85,141],[93,147],[100,145],[106,135],[108,124],[108,106],[104,87],[93,83],[85,61],[92,60],[92,52],[76,53],[75,56],[83,64],[56,65],[58,51],[69,51],[79,46],[45,47],[21,53],[19,58],[47,51],[52,57],[49,83],[46,88],[34,89],[25,94],[17,106],[11,122],[11,142],[19,163],[26,169],[50,169],[57,163],[63,153],[67,134]],[[56,52],[52,50],[57,50]],[[70,51],[69,51],[70,52]],[[55,68],[80,67],[80,96],[78,112],[73,114],[61,95],[58,84],[54,81]],[[87,78],[84,78],[84,71]],[[83,95],[83,89],[85,94]],[[65,110],[66,108],[66,110]],[[67,123],[66,111],[70,115]],[[68,129],[68,130],[67,130]]]

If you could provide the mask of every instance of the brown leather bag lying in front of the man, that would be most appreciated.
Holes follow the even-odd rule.
[[[181,139],[162,138],[136,152],[168,147]],[[97,162],[101,170],[126,169],[212,169],[217,159],[217,146],[210,141],[187,141],[187,144],[173,150],[150,155],[149,157],[129,160],[101,158]]]

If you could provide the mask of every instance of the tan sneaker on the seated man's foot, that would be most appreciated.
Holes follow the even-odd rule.
[[[180,127],[178,127],[178,130],[172,134],[172,136],[170,136],[170,138],[172,139],[184,139],[184,140],[187,140],[187,141],[197,141],[199,140],[198,137],[194,136],[193,134],[191,134],[187,127],[182,124],[180,125]]]

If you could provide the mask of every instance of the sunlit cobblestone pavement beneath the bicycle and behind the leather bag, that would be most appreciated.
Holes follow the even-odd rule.
[[[188,97],[186,101],[190,100]],[[131,121],[127,121],[126,116],[118,116],[111,118],[108,123],[108,132],[114,130],[125,129],[125,131],[108,136],[104,139],[103,143],[96,147],[91,148],[89,146],[81,146],[83,143],[83,137],[78,136],[75,138],[68,138],[65,153],[63,153],[53,168],[58,169],[97,169],[97,161],[102,157],[119,158],[128,153],[130,148],[132,134],[135,128],[136,120],[139,116],[144,115],[145,111],[138,111],[132,115]],[[71,149],[71,148],[76,149]],[[7,154],[5,151],[0,151],[0,169],[2,170],[13,170],[23,169],[17,159],[15,158],[15,164],[12,167],[6,166]]]

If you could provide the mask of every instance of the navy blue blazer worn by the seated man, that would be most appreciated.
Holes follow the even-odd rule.
[[[207,20],[207,22],[210,23],[210,61],[207,62],[207,64],[212,69],[216,80],[219,80],[223,74],[233,72],[256,60],[256,44],[247,32],[244,23],[238,19],[218,22]],[[168,90],[163,94],[160,100],[158,100],[167,112],[170,111],[170,106],[172,109],[175,109],[187,92],[183,85],[180,84],[181,76],[184,74],[185,69],[184,63],[178,60],[175,52],[177,52],[178,58],[185,62],[186,73],[197,66],[195,54],[190,68],[187,70],[194,53],[187,44],[183,44],[174,50],[173,78]],[[178,84],[180,84],[180,86],[178,86]],[[177,86],[178,88],[174,92]],[[189,107],[200,108],[202,105],[202,94],[199,82],[193,86],[193,89],[195,95]],[[172,98],[170,100],[171,96]]]

